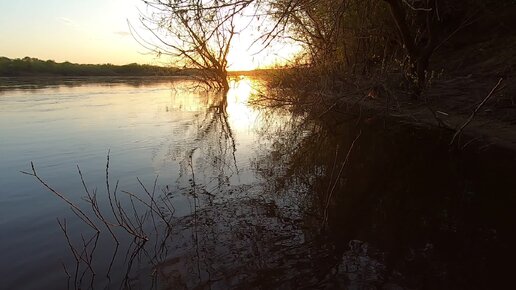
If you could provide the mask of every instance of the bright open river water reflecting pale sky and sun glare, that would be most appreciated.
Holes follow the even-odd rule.
[[[250,84],[233,83],[223,114],[209,109],[216,94],[183,80],[36,88],[11,83],[0,91],[0,285],[66,287],[61,263],[70,254],[56,218],[68,218],[76,237],[84,230],[66,204],[20,173],[30,170],[31,161],[45,181],[79,203],[85,192],[76,165],[89,186],[103,190],[108,150],[113,183],[120,180],[122,190],[142,191],[137,177],[151,186],[159,175],[160,189],[179,191],[192,179],[184,172],[192,154],[203,190],[215,194],[224,186],[255,183],[250,162],[263,144],[255,132],[259,114],[247,106]],[[216,170],[223,172],[224,184]],[[174,202],[176,215],[190,212],[186,200]]]

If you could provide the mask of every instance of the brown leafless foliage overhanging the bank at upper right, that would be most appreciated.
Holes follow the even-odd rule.
[[[268,2],[275,24],[265,38],[302,43],[305,63],[322,76],[401,72],[415,97],[427,86],[431,58],[440,47],[488,13],[511,5],[480,0]]]

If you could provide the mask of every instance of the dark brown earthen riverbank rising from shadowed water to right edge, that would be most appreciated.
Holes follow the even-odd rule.
[[[331,110],[363,118],[394,117],[402,122],[443,128],[457,134],[450,145],[458,148],[479,142],[516,150],[514,94],[505,90],[509,81],[500,78],[479,83],[472,77],[445,80],[429,89],[427,93],[434,96],[424,100],[389,93],[379,95],[369,89],[351,97],[333,97],[330,106]],[[455,87],[445,87],[446,82],[456,82]],[[504,104],[507,102],[510,103]]]

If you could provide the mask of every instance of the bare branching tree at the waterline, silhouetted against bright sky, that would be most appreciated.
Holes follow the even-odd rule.
[[[228,53],[241,32],[238,18],[255,0],[142,0],[140,22],[150,32],[135,38],[157,55],[172,56],[184,68],[198,69],[210,87],[227,91]],[[238,26],[238,27],[237,27]]]

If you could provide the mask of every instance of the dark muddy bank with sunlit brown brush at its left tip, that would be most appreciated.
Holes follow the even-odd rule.
[[[399,74],[376,78],[348,76],[333,80],[336,87],[310,84],[313,76],[294,72],[295,82],[271,83],[271,90],[258,103],[289,106],[296,114],[313,119],[345,122],[395,119],[453,134],[460,131],[454,146],[494,144],[516,150],[516,83],[511,75],[453,75],[442,77],[418,99],[408,90],[394,88]],[[321,76],[322,77],[322,76]],[[494,89],[494,90],[493,90]],[[462,128],[462,129],[461,129]],[[450,143],[451,143],[450,139]]]

